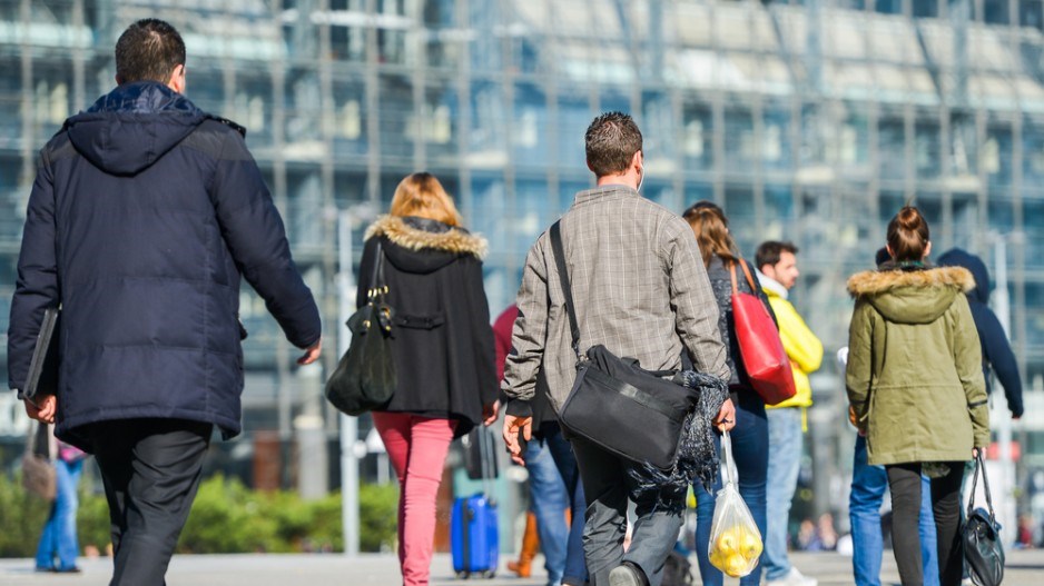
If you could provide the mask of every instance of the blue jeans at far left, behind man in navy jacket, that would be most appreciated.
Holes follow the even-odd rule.
[[[55,460],[58,493],[51,505],[51,514],[43,525],[43,534],[37,545],[37,568],[68,570],[76,567],[80,545],[76,537],[76,509],[79,500],[76,487],[83,473],[83,460]],[[55,565],[55,555],[58,565]]]

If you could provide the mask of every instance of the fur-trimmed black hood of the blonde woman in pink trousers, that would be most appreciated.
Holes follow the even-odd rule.
[[[417,217],[382,216],[366,230],[365,240],[385,237],[396,246],[385,247],[388,262],[404,272],[427,275],[461,255],[485,257],[484,238],[441,221]]]

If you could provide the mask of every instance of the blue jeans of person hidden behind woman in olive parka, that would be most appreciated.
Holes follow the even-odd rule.
[[[935,517],[932,514],[932,491],[928,478],[922,477],[920,555],[924,585],[938,586],[939,567],[935,545]],[[880,530],[880,505],[888,487],[884,466],[866,461],[866,438],[856,438],[851,465],[851,493],[848,497],[848,518],[851,522],[851,569],[856,586],[880,586],[880,559],[884,539]]]

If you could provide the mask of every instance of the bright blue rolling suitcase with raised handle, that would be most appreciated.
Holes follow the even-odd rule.
[[[489,474],[489,470],[494,469],[493,438],[492,435],[483,433],[476,436],[481,444],[480,459],[486,471],[482,476],[490,479],[496,474],[495,471],[492,475]],[[471,576],[492,578],[496,575],[500,537],[498,536],[496,503],[492,498],[490,488],[486,486],[484,494],[460,497],[453,501],[453,511],[450,516],[450,548],[453,553],[453,570],[460,578]]]

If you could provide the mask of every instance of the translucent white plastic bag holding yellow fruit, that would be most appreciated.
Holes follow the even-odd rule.
[[[715,520],[710,526],[707,554],[716,568],[739,578],[758,567],[764,546],[761,532],[736,489],[736,461],[728,431],[721,435],[721,455],[725,459],[725,486],[715,499]]]

